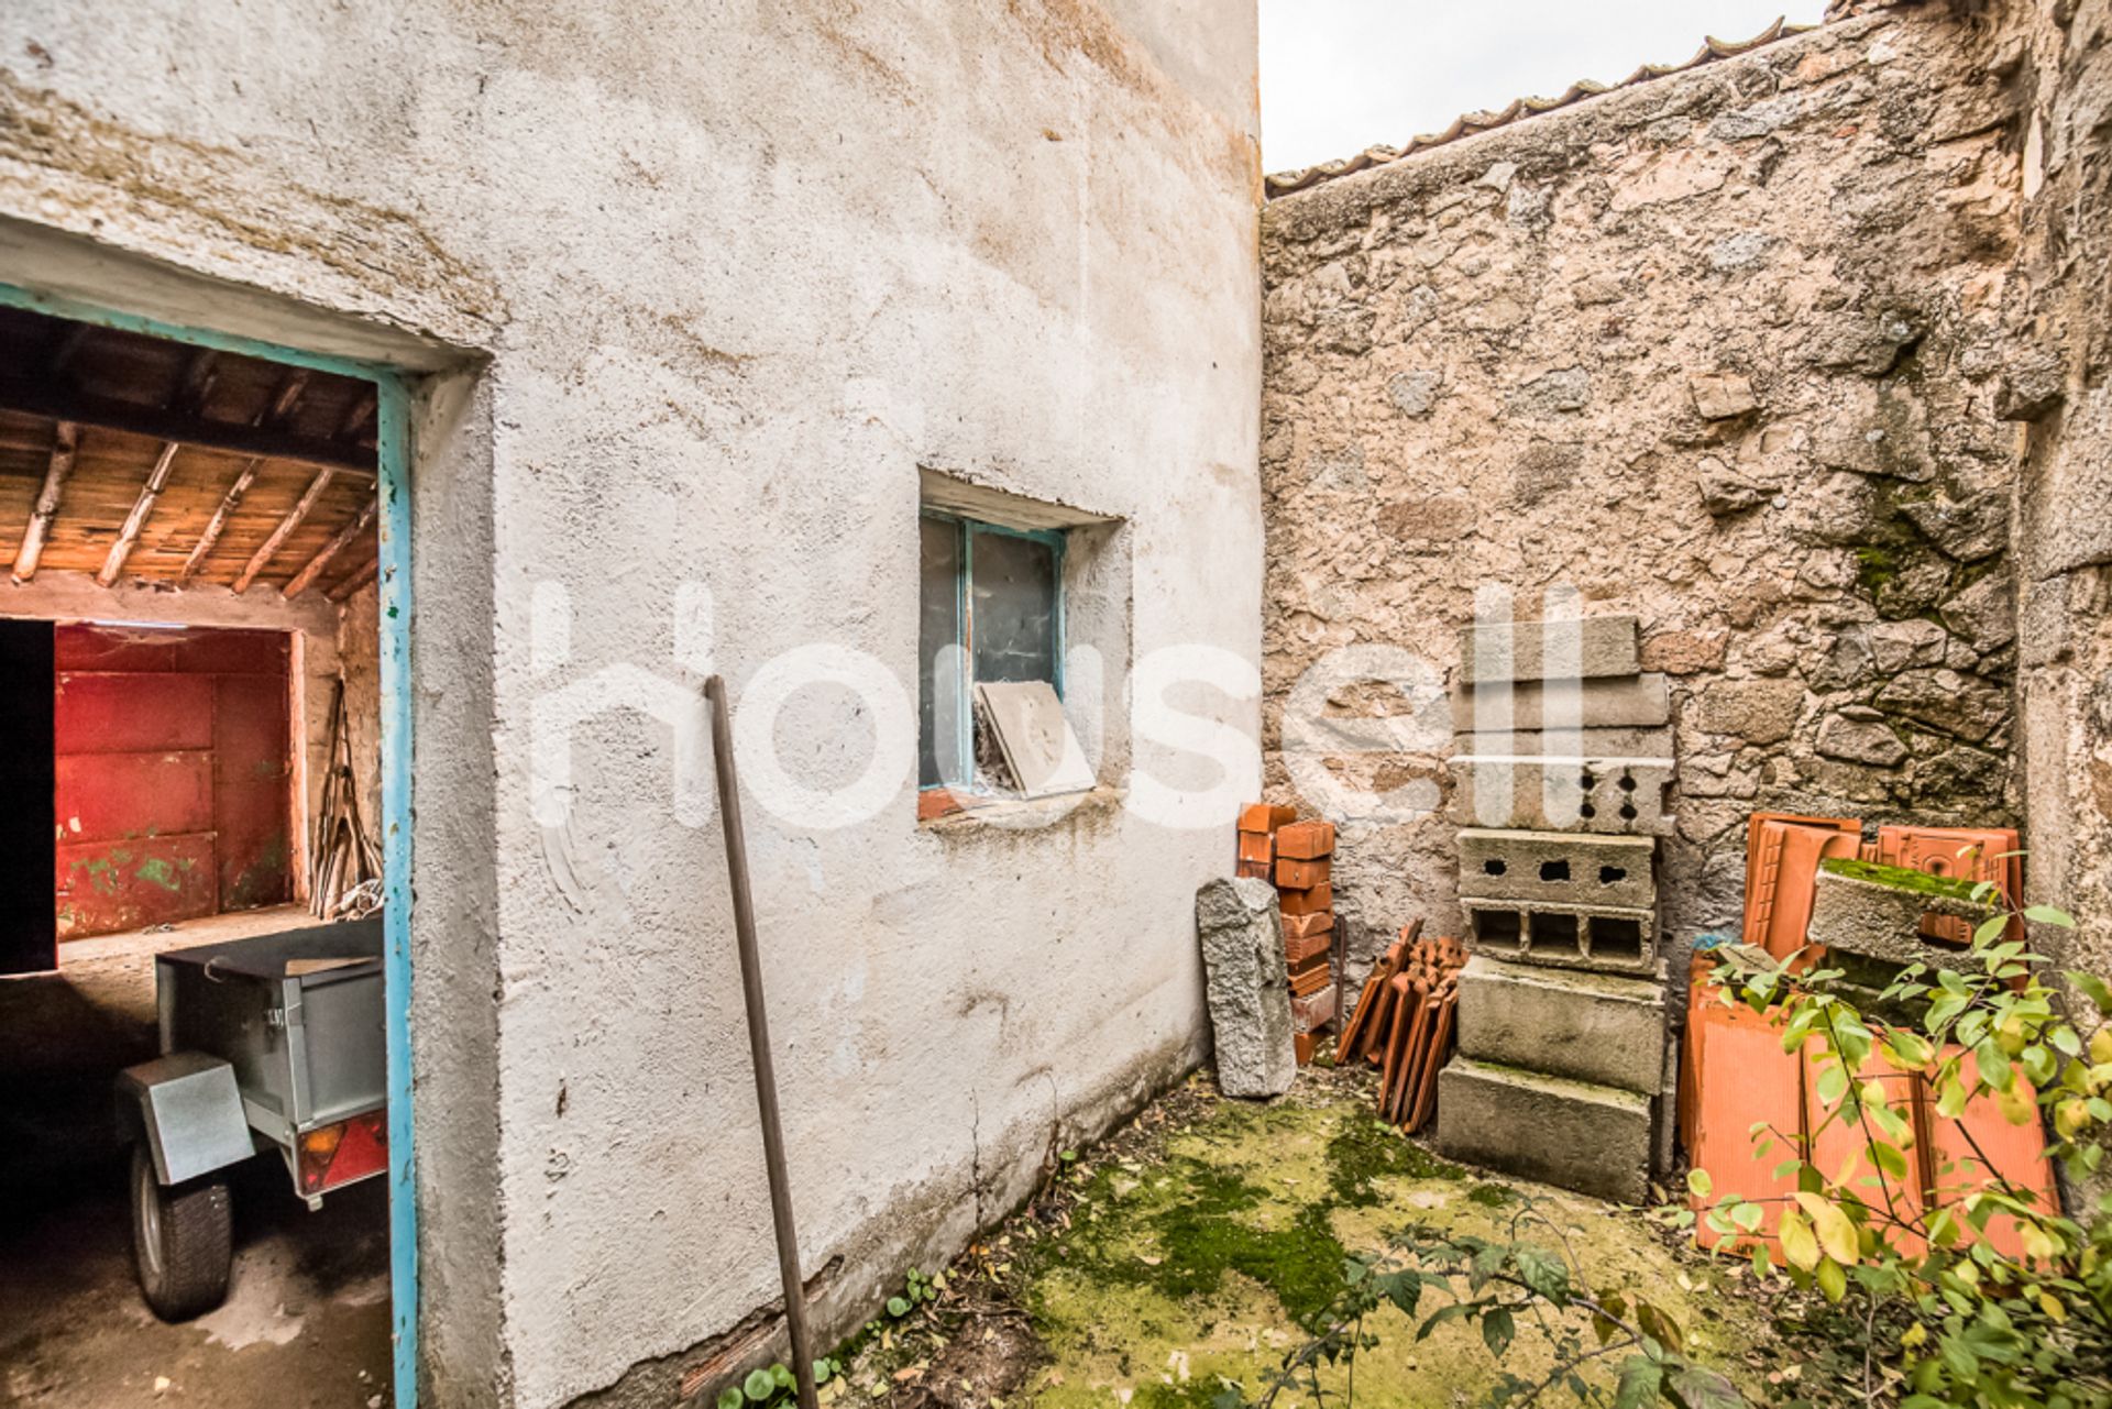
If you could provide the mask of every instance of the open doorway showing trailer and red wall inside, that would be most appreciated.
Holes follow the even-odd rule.
[[[6,1403],[391,1398],[378,412],[0,308]]]

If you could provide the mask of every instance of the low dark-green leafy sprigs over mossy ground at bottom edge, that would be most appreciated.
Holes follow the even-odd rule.
[[[1554,1246],[1516,1238],[1533,1223]],[[1225,1384],[1214,1409],[1271,1409],[1284,1392],[1301,1405],[1337,1403],[1320,1375],[1333,1365],[1345,1367],[1339,1403],[1354,1405],[1356,1356],[1379,1344],[1369,1322],[1388,1305],[1415,1322],[1417,1341],[1447,1322],[1470,1322],[1497,1360],[1510,1354],[1521,1329],[1544,1339],[1552,1369],[1535,1379],[1500,1373],[1489,1405],[1531,1405],[1548,1392],[1616,1409],[1656,1401],[1683,1409],[1745,1403],[1723,1375],[1685,1356],[1685,1333],[1671,1312],[1639,1293],[1590,1289],[1567,1234],[1531,1198],[1521,1198],[1510,1234],[1491,1240],[1411,1225],[1383,1251],[1350,1257],[1341,1291],[1307,1325],[1309,1339],[1252,1394],[1244,1384]],[[1616,1371],[1611,1392],[1584,1377],[1592,1365]]]

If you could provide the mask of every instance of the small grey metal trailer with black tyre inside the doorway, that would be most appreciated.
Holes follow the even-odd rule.
[[[382,921],[154,957],[161,1056],[118,1073],[133,1263],[148,1305],[220,1305],[234,1261],[226,1170],[275,1149],[308,1208],[386,1172]]]

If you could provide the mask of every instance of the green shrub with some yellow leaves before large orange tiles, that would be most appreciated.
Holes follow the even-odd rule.
[[[1755,1242],[1755,1272],[1861,1308],[1871,1405],[2104,1409],[2112,1405],[2112,1196],[2082,1225],[2049,1189],[1990,1160],[1968,1126],[1956,1130],[1970,1160],[1937,1164],[1916,1141],[1916,1086],[1945,1122],[1992,1105],[2009,1124],[2042,1124],[2047,1153],[2078,1181],[2099,1170],[2112,1128],[2112,989],[2068,974],[2068,991],[2095,1010],[2072,1014],[2042,980],[2044,959],[2009,938],[2017,919],[2057,929],[2074,921],[2053,906],[2019,908],[1990,883],[1970,898],[1996,913],[1966,953],[1947,967],[1907,965],[1861,1003],[1840,967],[1726,955],[1713,976],[1721,1001],[1776,1014],[1783,1050],[1812,1063],[1816,1105],[1804,1132],[1753,1130],[1755,1158],[1776,1156],[1774,1177],[1793,1175],[1795,1191],[1726,1194],[1704,1227],[1721,1246],[1757,1234],[1774,1213],[1785,1265]],[[1829,1132],[1831,1147],[1850,1147],[1837,1168],[1814,1162]],[[1713,1183],[1709,1170],[1690,1175],[1698,1198]]]

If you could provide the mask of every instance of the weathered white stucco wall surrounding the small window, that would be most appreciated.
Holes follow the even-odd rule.
[[[539,826],[534,703],[612,665],[693,687],[678,596],[737,710],[815,640],[914,699],[919,467],[1126,520],[1132,657],[1252,663],[1252,4],[25,0],[0,55],[0,215],[260,289],[196,313],[247,332],[488,357],[418,448],[429,1401],[678,1371],[775,1295],[720,837],[638,712],[574,731]],[[864,771],[868,718],[796,695],[784,767]],[[841,830],[748,818],[836,1327],[1198,1056],[1193,889],[1231,845],[1229,811],[921,828],[912,773]]]

